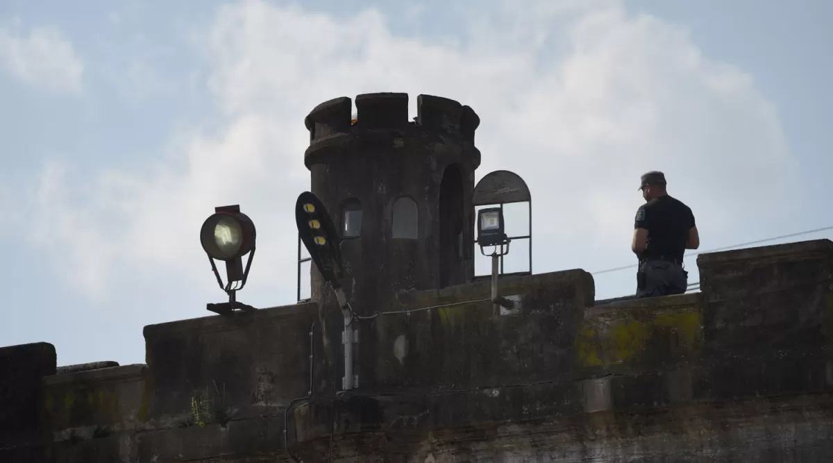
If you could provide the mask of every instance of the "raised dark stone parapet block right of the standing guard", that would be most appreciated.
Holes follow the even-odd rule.
[[[711,356],[827,351],[833,332],[833,242],[701,254]]]

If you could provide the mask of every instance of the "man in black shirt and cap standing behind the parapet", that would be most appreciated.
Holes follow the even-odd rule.
[[[688,285],[683,253],[700,246],[694,214],[666,192],[662,172],[642,175],[639,189],[646,203],[636,211],[631,243],[639,257],[636,297],[683,294]]]

